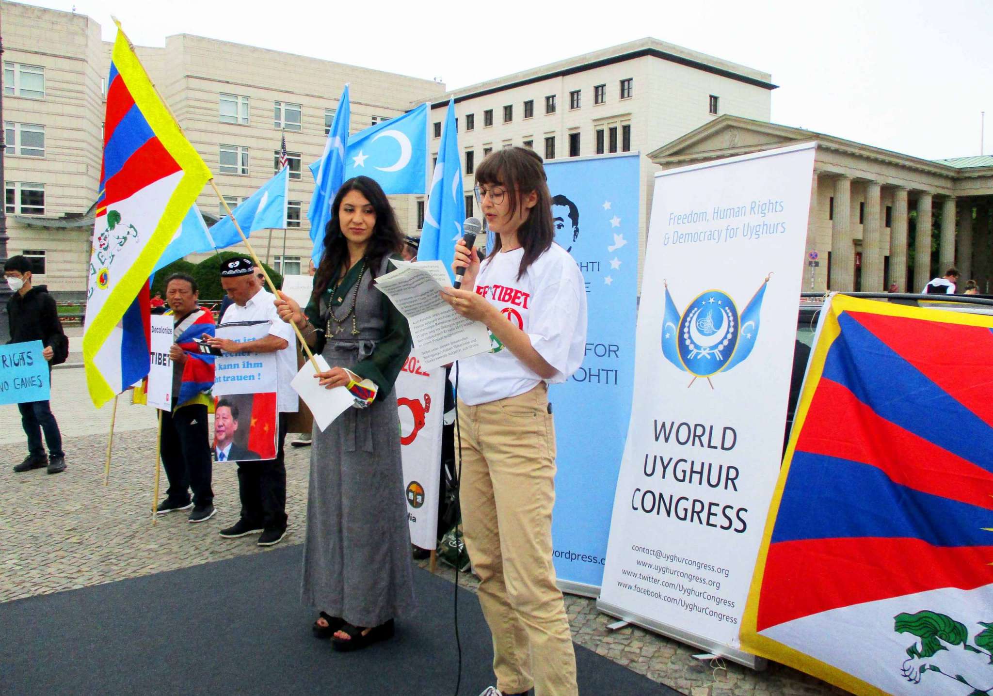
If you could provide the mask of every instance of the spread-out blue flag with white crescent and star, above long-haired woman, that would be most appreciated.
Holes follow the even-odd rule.
[[[349,138],[345,178],[364,175],[386,194],[423,194],[428,105],[377,123]]]

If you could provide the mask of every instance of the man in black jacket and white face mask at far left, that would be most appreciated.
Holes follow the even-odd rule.
[[[4,263],[4,276],[13,291],[7,301],[7,316],[10,319],[10,342],[41,341],[45,346],[42,354],[50,362],[59,353],[58,361],[66,359],[69,348],[56,301],[49,295],[45,286],[32,287],[31,261],[26,257],[11,256]],[[49,474],[66,471],[66,453],[62,449],[62,433],[52,415],[48,401],[31,401],[17,405],[21,410],[21,425],[28,436],[28,456],[14,467],[17,473],[48,467]],[[45,455],[42,433],[49,446]]]

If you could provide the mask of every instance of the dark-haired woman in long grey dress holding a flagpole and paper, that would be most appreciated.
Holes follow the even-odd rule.
[[[394,618],[414,607],[393,390],[410,332],[372,285],[403,238],[378,184],[355,177],[342,186],[324,244],[306,311],[282,293],[276,305],[328,360],[322,385],[357,376],[379,387],[367,408],[350,408],[324,432],[315,426],[311,449],[301,596],[321,611],[315,633],[355,650],[392,636]]]

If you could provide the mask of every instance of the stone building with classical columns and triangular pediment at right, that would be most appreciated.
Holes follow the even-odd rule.
[[[993,157],[930,161],[871,145],[723,115],[651,152],[670,169],[816,143],[805,291],[920,292],[957,266],[993,293]],[[822,261],[807,266],[807,254]],[[961,288],[960,288],[961,291]]]

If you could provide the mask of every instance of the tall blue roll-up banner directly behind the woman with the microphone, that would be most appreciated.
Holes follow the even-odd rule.
[[[638,153],[545,164],[555,241],[586,281],[582,366],[553,385],[552,546],[559,587],[596,597],[631,415],[638,301]]]

